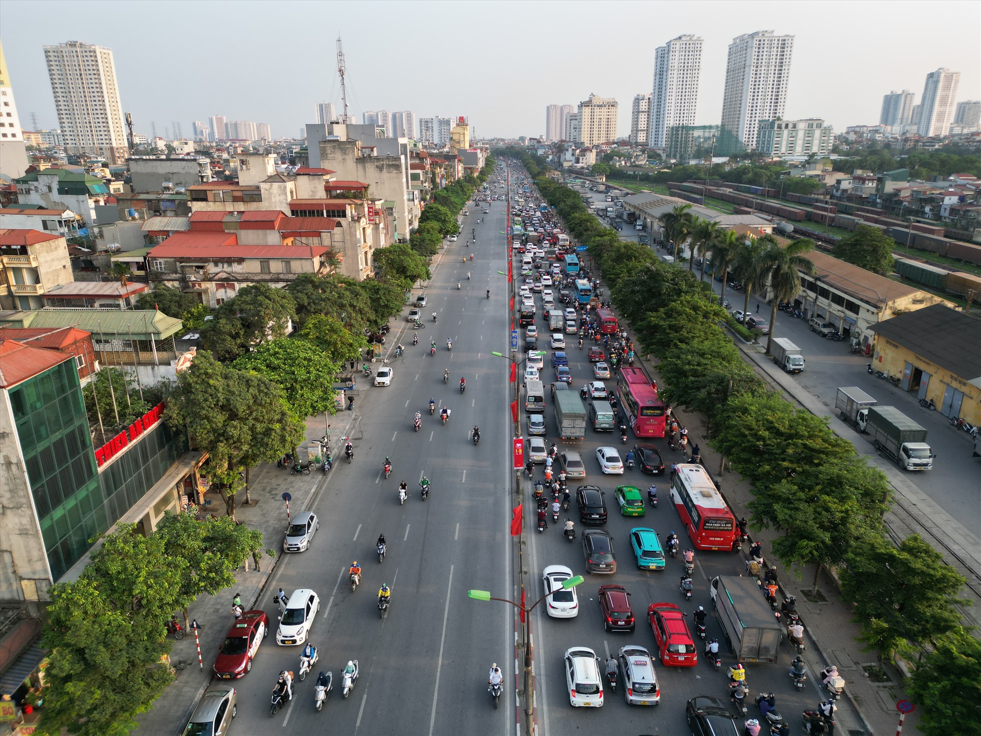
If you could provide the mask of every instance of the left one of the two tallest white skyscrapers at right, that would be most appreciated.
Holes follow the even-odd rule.
[[[694,126],[701,72],[701,39],[694,35],[672,38],[654,50],[654,86],[650,98],[650,133],[653,148],[663,148],[673,126]]]

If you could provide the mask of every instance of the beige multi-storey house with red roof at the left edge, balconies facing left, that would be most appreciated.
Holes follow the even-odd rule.
[[[41,294],[72,281],[64,236],[0,230],[0,307],[40,309]]]

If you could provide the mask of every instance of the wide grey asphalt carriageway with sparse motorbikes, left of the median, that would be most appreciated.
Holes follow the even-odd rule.
[[[465,233],[478,230],[478,244],[465,237],[447,243],[435,278],[426,289],[426,329],[412,345],[404,317],[388,335],[387,346],[406,345],[394,359],[390,387],[367,388],[357,402],[359,421],[352,432],[355,456],[339,458],[330,483],[314,499],[321,528],[308,552],[281,561],[262,605],[277,625],[272,594],[312,588],[321,611],[311,641],[320,650],[316,669],[333,670],[335,688],[327,706],[316,712],[314,673],[294,686],[293,701],[270,719],[270,693],[282,669],[299,668],[300,647],[279,647],[275,631],[260,648],[252,671],[234,683],[238,716],[232,734],[268,732],[308,734],[328,727],[346,734],[473,732],[478,724],[490,733],[514,730],[513,614],[509,606],[466,598],[469,588],[510,597],[510,503],[506,491],[510,435],[507,362],[490,356],[507,344],[503,205],[495,202],[487,223],[471,208]],[[462,235],[462,234],[461,234]],[[475,260],[461,262],[464,253]],[[472,279],[467,280],[467,271]],[[461,289],[456,289],[457,281]],[[485,289],[491,298],[485,298]],[[418,292],[418,291],[417,291]],[[436,311],[439,321],[429,316]],[[453,349],[446,349],[446,338]],[[437,343],[436,358],[429,342]],[[443,368],[451,380],[442,383]],[[460,377],[467,390],[460,394]],[[446,426],[428,411],[430,397],[451,409]],[[423,414],[422,430],[412,417]],[[474,447],[470,430],[481,427]],[[392,474],[382,473],[385,457]],[[432,481],[423,502],[419,479]],[[397,499],[405,480],[409,498]],[[378,562],[375,541],[384,533],[387,558]],[[357,559],[363,584],[351,592],[346,570]],[[386,619],[376,607],[382,583],[392,591]],[[360,678],[351,697],[340,697],[339,673],[358,659]],[[487,693],[492,661],[505,672],[505,695],[494,711]]]

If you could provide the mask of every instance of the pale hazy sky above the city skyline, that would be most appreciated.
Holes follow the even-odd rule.
[[[772,29],[797,36],[785,118],[835,130],[879,122],[882,95],[927,73],[960,72],[957,100],[981,99],[981,3],[970,2],[23,2],[0,1],[0,33],[22,125],[58,125],[41,47],[78,40],[113,49],[135,130],[184,136],[211,115],[268,123],[274,136],[340,103],[349,112],[464,115],[478,135],[539,135],[545,106],[591,92],[620,103],[630,132],[649,92],[654,48],[704,39],[697,124],[718,123],[726,49]]]

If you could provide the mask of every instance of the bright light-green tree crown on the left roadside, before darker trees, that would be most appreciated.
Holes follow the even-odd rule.
[[[334,381],[340,366],[313,342],[263,342],[238,357],[232,368],[252,371],[279,386],[286,405],[300,419],[335,411]]]

